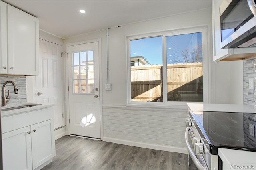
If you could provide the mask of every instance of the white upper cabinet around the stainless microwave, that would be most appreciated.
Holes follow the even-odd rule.
[[[212,40],[213,40],[213,60],[214,61],[232,61],[243,60],[255,55],[256,48],[231,48],[221,49],[220,33],[220,5],[226,0],[212,0]]]

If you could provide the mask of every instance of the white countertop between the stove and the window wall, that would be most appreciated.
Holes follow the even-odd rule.
[[[187,105],[191,111],[256,113],[256,108],[249,105],[204,104],[204,103],[187,103]]]

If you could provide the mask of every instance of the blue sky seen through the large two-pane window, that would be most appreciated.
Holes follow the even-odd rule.
[[[202,44],[202,34],[181,34],[166,37],[166,53],[167,63],[182,63],[184,62],[181,51],[186,47],[190,52],[195,50],[198,44]],[[162,61],[162,36],[152,38],[142,38],[130,41],[131,57],[143,56],[149,64],[161,64]]]

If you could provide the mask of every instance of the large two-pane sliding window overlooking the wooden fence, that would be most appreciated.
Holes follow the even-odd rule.
[[[203,60],[208,62],[203,55],[208,54],[207,47],[202,43],[207,41],[206,30],[195,28],[146,38],[129,37],[128,101],[203,102],[204,82],[208,81],[208,76],[203,79]]]

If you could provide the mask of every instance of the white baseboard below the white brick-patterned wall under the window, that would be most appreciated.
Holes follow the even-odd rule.
[[[110,137],[103,137],[101,140],[105,142],[112,142],[112,143],[118,143],[118,144],[124,144],[129,146],[136,146],[140,148],[148,148],[148,149],[156,149],[156,150],[164,150],[168,152],[177,152],[182,154],[188,154],[188,150],[186,148],[182,147],[176,147],[176,146],[163,146],[163,145],[156,145],[156,144],[148,144],[148,143],[142,143],[142,142],[134,142],[134,141],[128,141],[128,140],[122,140],[122,139],[116,139],[116,138],[110,138]]]

